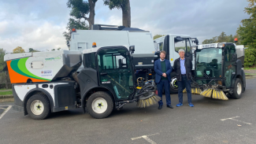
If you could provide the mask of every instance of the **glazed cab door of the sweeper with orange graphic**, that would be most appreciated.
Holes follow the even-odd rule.
[[[135,79],[130,53],[123,46],[103,48],[98,51],[99,85],[108,87],[117,101],[132,99]]]

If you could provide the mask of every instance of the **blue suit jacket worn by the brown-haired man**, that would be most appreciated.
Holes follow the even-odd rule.
[[[169,80],[169,82],[171,81],[171,75],[170,73],[172,72],[173,68],[171,66],[171,63],[169,60],[165,59],[165,65],[166,65],[166,75],[167,78]],[[161,75],[163,74],[163,72],[161,72],[161,61],[160,58],[157,61],[154,61],[154,72],[156,72],[155,74],[155,83],[159,83],[161,80]]]

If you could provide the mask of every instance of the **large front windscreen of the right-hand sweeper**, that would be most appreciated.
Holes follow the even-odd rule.
[[[221,78],[222,50],[207,48],[196,51],[195,76],[197,78]]]

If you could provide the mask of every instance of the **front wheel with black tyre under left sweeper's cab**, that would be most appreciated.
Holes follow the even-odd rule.
[[[113,111],[113,99],[106,92],[95,92],[88,98],[86,109],[95,119],[106,118]]]

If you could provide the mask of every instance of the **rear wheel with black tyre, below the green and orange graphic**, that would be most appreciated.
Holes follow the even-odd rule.
[[[45,94],[35,94],[28,99],[27,112],[32,119],[43,120],[50,115],[50,102]]]

